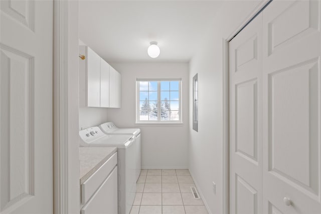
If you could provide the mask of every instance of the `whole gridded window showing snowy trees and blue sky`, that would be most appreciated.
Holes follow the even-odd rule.
[[[181,123],[181,78],[137,78],[137,123]]]

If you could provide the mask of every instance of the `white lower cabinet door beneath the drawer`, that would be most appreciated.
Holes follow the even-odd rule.
[[[117,214],[117,166],[81,209],[81,214]]]

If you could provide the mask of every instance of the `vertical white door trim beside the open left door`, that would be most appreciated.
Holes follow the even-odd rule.
[[[54,1],[54,213],[68,212],[67,1]]]

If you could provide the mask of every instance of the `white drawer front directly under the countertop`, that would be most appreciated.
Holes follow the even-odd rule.
[[[97,169],[84,183],[81,184],[81,203],[84,204],[106,179],[117,164],[117,152]]]

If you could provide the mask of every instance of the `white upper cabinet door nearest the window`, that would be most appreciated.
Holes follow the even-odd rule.
[[[121,75],[109,67],[109,107],[120,108],[121,106]]]

